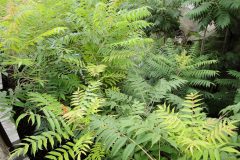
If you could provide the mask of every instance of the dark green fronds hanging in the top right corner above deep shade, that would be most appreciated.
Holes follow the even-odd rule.
[[[193,4],[195,8],[188,13],[189,17],[200,22],[202,28],[214,23],[219,29],[230,26],[240,9],[238,0],[183,0],[187,4]]]

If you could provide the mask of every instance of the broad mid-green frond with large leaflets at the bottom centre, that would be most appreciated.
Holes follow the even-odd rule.
[[[110,120],[107,117],[95,118],[91,126],[93,129],[97,130],[97,141],[100,140],[106,147],[106,150],[111,151],[113,157],[121,157],[123,160],[127,160],[132,157],[132,154],[137,147],[150,156],[140,145],[141,143],[144,143],[145,140],[137,142],[128,137],[128,135],[121,131],[120,128],[117,128],[117,122],[114,119]],[[123,123],[124,122],[125,121],[123,121]],[[124,127],[127,127],[129,126],[129,123],[123,125],[125,125]],[[119,153],[119,150],[122,151],[122,154]]]

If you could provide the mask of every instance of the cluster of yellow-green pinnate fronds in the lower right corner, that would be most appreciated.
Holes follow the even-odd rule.
[[[183,159],[220,160],[224,154],[239,154],[232,138],[237,137],[234,121],[207,118],[200,107],[202,99],[197,93],[189,94],[178,113],[170,106],[160,106],[157,114],[169,138],[178,145]],[[229,156],[230,156],[229,155]]]

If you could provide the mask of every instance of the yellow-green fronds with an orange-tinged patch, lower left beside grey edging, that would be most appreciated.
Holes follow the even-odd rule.
[[[88,130],[91,116],[99,111],[104,101],[97,94],[99,86],[99,82],[92,82],[85,91],[76,91],[72,97],[72,109],[57,102],[50,95],[29,94],[32,107],[21,114],[16,123],[28,118],[32,125],[36,123],[36,129],[44,127],[44,131],[22,139],[22,143],[11,153],[10,159],[26,155],[30,151],[35,155],[39,150],[50,150],[45,158],[54,160],[71,158],[80,160],[82,155],[90,152],[89,157],[95,159],[104,157],[104,151],[99,148],[99,144],[90,149],[94,143],[93,131]],[[34,107],[39,109],[38,113],[34,113],[36,112]]]

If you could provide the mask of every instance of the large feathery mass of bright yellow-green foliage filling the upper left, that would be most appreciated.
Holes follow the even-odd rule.
[[[16,66],[16,73],[23,66],[25,72],[15,76],[41,85],[49,79],[45,73],[52,63],[58,76],[63,71],[86,74],[94,65],[106,66],[102,81],[115,85],[125,77],[132,58],[139,57],[152,42],[142,31],[150,26],[142,20],[150,15],[148,8],[119,10],[121,3],[118,0],[9,2],[9,13],[0,27],[3,64]],[[90,75],[96,74],[99,73],[90,71]]]

